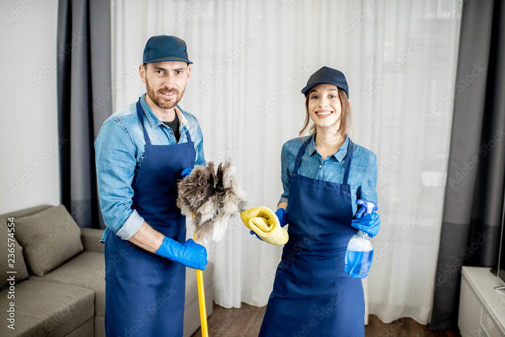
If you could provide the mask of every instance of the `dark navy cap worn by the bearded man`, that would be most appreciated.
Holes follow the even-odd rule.
[[[188,60],[186,42],[184,42],[184,40],[172,35],[153,36],[145,43],[142,63],[146,64],[163,61],[193,63]]]

